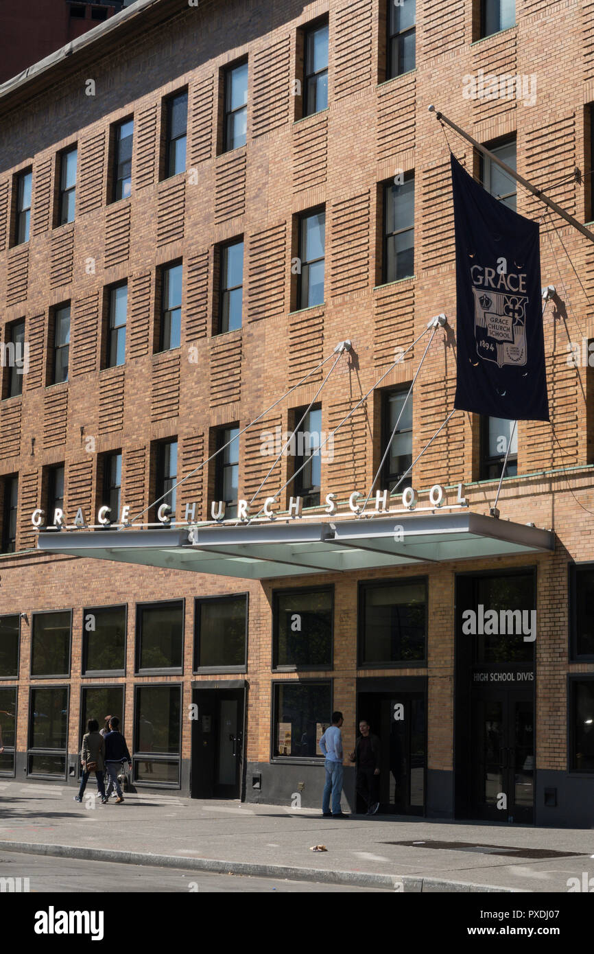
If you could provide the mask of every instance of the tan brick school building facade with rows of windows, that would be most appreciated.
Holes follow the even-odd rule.
[[[502,200],[541,220],[543,283],[557,288],[543,317],[556,438],[549,425],[519,423],[501,518],[485,517],[498,524],[501,546],[485,542],[492,535],[482,523],[476,546],[454,529],[449,550],[431,542],[443,513],[428,507],[429,488],[445,487],[453,515],[488,515],[502,468],[501,446],[495,454],[489,446],[497,428],[457,411],[399,487],[419,488],[418,510],[434,520],[426,557],[410,563],[384,552],[323,571],[313,545],[298,544],[307,564],[288,539],[278,576],[260,580],[249,569],[216,575],[225,555],[216,550],[199,572],[170,569],[179,564],[163,548],[149,566],[130,552],[118,562],[68,555],[79,536],[94,534],[101,548],[101,539],[129,530],[62,530],[55,546],[36,549],[36,508],[50,524],[54,508],[69,526],[79,508],[96,524],[97,510],[117,500],[135,517],[228,442],[229,452],[177,488],[177,521],[187,504],[196,505],[195,521],[209,521],[218,499],[233,506],[256,495],[261,508],[295,467],[280,456],[260,488],[277,456],[262,453],[264,435],[290,433],[310,405],[320,406],[324,434],[353,413],[322,457],[319,483],[301,481],[312,507],[284,526],[329,524],[331,492],[337,525],[361,523],[346,502],[369,491],[392,430],[391,396],[403,400],[429,341],[411,426],[399,428],[390,455],[396,469],[384,467],[378,487],[393,486],[402,460],[416,460],[453,407],[449,155],[430,103],[507,150],[505,161],[511,150],[524,176],[580,220],[591,218],[590,8],[518,0],[511,25],[502,18],[505,29],[484,36],[490,21],[471,0],[427,2],[416,25],[404,13],[388,23],[389,11],[385,0],[197,8],[158,0],[0,97],[4,357],[9,345],[28,345],[20,383],[8,360],[2,368],[0,774],[73,786],[83,721],[121,699],[134,784],[286,804],[298,793],[301,804],[317,805],[317,738],[338,709],[345,751],[359,717],[382,739],[385,810],[591,825],[594,399],[587,361],[567,359],[570,342],[584,351],[591,336],[594,259],[587,239],[515,183]],[[486,73],[536,75],[535,103],[464,95],[467,77]],[[466,168],[502,194],[494,170],[448,138]],[[118,288],[127,296],[119,339]],[[431,336],[427,322],[440,313],[447,324]],[[319,365],[345,340],[351,350],[320,391],[330,363]],[[409,349],[399,363],[397,348]],[[294,385],[239,435],[236,467],[237,431]],[[226,478],[236,478],[236,490],[221,497]],[[456,509],[459,493],[467,508]],[[290,483],[278,512],[291,495]],[[506,518],[509,530],[501,529]],[[154,508],[139,522],[155,523]],[[519,551],[512,538],[522,528]],[[536,529],[554,532],[554,550]],[[283,596],[297,590],[303,599]],[[536,610],[533,642],[469,648],[461,612],[489,594],[498,608]],[[217,596],[237,598],[208,604]],[[110,615],[108,607],[119,609]],[[303,623],[309,633],[292,637]],[[347,769],[355,808],[353,776]]]

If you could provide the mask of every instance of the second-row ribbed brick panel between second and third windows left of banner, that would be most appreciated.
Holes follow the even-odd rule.
[[[248,250],[248,320],[273,318],[285,310],[287,226],[273,225],[250,236]]]

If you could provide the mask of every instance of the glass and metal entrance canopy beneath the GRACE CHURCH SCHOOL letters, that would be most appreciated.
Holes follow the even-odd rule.
[[[480,513],[119,530],[45,530],[47,553],[263,580],[554,550],[554,534]]]

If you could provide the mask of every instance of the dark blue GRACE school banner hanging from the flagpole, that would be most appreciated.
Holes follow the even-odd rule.
[[[548,421],[539,226],[490,196],[451,156],[456,229],[454,407]]]

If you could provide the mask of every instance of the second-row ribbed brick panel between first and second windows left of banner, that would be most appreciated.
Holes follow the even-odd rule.
[[[369,190],[332,203],[330,294],[347,295],[369,284]]]

